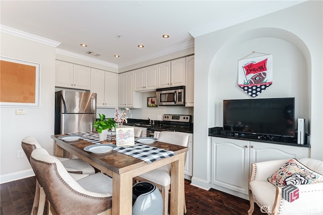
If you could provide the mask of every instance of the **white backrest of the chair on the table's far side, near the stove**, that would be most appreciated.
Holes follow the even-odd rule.
[[[158,141],[168,142],[182,147],[188,147],[188,133],[180,133],[173,131],[160,131]]]

